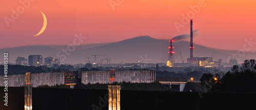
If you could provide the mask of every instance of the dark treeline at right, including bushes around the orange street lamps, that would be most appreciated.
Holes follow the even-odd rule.
[[[241,67],[233,65],[222,78],[218,74],[204,74],[200,81],[202,87],[210,92],[256,93],[255,60],[245,60]]]

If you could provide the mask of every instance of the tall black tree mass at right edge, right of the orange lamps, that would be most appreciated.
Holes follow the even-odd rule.
[[[242,67],[233,65],[211,91],[232,93],[256,93],[255,60],[244,60]]]

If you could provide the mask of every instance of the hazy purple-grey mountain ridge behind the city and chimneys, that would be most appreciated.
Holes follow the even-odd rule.
[[[176,62],[181,62],[179,51],[181,51],[183,59],[189,57],[189,45],[188,41],[175,41],[174,46],[174,57]],[[158,63],[164,62],[168,58],[168,46],[169,40],[167,39],[156,39],[150,36],[140,36],[131,39],[126,39],[113,43],[99,43],[91,45],[80,45],[75,47],[70,55],[66,55],[65,52],[59,52],[62,48],[67,49],[67,46],[25,46],[25,47],[14,47],[0,49],[1,53],[9,52],[9,61],[15,63],[15,59],[18,56],[28,58],[29,55],[42,55],[43,57],[52,56],[54,58],[60,58],[61,63],[86,63],[87,60],[84,57],[91,57],[89,60],[94,60],[94,54],[101,56],[96,57],[96,61],[105,58],[114,58],[111,63],[124,63],[141,61],[147,63]],[[238,51],[228,51],[221,49],[209,48],[201,45],[194,44],[194,57],[214,57],[214,60],[223,59],[227,61],[229,56],[237,54]],[[58,53],[59,52],[59,53]],[[57,55],[59,54],[59,55]],[[67,58],[64,60],[63,55]],[[58,56],[58,57],[57,57]],[[3,54],[0,55],[3,58]],[[238,61],[245,59],[254,59],[256,52],[245,52],[245,55]],[[106,61],[103,61],[106,63]]]

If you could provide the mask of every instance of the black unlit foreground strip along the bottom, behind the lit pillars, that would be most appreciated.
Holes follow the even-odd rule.
[[[0,87],[4,90],[4,87]],[[8,87],[8,106],[1,110],[24,109],[24,87]],[[33,88],[33,109],[108,109],[108,90]],[[252,109],[255,93],[205,93],[169,91],[120,91],[120,106],[126,109]],[[0,100],[4,100],[0,91]],[[185,105],[185,106],[184,106]]]

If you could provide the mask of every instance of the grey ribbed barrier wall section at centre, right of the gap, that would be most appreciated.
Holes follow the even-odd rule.
[[[113,83],[113,82],[132,82],[132,83],[151,83],[156,80],[155,70],[115,70],[115,81],[110,81],[110,71],[82,71],[81,83]]]

